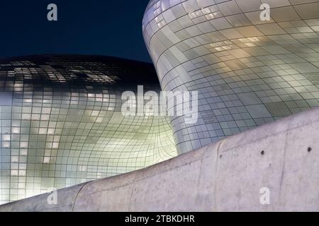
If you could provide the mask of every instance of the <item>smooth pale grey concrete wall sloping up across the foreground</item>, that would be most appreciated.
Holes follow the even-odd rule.
[[[260,202],[269,189],[269,205]],[[318,211],[319,109],[1,211]]]

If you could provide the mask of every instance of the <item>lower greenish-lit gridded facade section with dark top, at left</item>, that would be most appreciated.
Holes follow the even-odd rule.
[[[167,117],[123,117],[121,95],[138,85],[160,91],[152,64],[91,56],[1,59],[0,203],[176,156]]]

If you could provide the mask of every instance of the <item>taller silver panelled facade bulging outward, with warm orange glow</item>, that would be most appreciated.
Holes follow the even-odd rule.
[[[319,106],[319,0],[152,0],[143,34],[162,89],[198,91],[181,152]]]

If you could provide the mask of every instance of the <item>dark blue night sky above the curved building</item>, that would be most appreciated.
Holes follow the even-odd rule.
[[[150,61],[142,39],[149,0],[0,0],[0,57],[101,54]],[[58,21],[47,20],[57,4]]]

